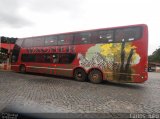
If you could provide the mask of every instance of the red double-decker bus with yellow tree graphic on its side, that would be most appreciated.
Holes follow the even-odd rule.
[[[93,29],[17,40],[12,70],[74,77],[101,83],[147,80],[145,24]]]

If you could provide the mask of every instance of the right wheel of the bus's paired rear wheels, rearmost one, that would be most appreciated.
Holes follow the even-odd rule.
[[[92,83],[101,83],[102,82],[102,73],[97,69],[93,69],[89,72],[88,79]]]

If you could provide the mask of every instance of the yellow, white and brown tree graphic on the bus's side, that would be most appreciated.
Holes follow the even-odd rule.
[[[79,54],[78,58],[80,66],[86,69],[98,67],[110,72],[111,80],[132,80],[129,77],[134,73],[132,66],[140,62],[136,46],[131,42],[96,44],[85,55]]]

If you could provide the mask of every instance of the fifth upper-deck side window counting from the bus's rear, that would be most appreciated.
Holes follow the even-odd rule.
[[[54,45],[57,45],[57,36],[46,36],[45,46],[54,46]]]

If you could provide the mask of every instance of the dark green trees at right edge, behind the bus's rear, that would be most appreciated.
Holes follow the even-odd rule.
[[[149,62],[160,63],[160,48],[156,49],[156,51],[154,51],[152,55],[148,56],[148,60]]]

